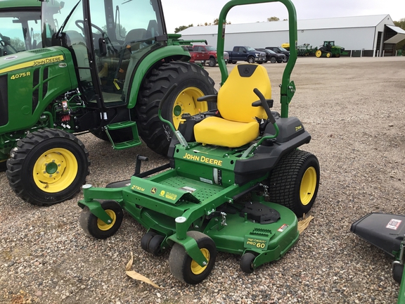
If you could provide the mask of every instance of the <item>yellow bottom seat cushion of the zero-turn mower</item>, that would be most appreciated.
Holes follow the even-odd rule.
[[[194,126],[194,136],[195,141],[202,144],[236,148],[249,144],[259,136],[259,123],[209,117]]]

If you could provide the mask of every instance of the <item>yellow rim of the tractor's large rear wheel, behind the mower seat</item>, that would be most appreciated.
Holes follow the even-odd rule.
[[[208,110],[207,102],[197,101],[198,97],[204,96],[203,91],[196,87],[188,87],[180,92],[173,104],[172,118],[173,125],[179,128],[181,115],[189,113],[195,115]]]

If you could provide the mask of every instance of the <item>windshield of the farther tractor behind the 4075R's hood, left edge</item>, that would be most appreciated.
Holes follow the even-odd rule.
[[[0,12],[1,55],[41,47],[40,11]]]

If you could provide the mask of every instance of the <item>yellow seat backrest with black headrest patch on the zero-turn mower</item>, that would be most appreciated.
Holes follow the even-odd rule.
[[[217,106],[222,118],[236,122],[252,122],[255,117],[266,119],[264,108],[253,107],[259,100],[253,89],[259,89],[264,98],[271,99],[271,83],[266,68],[257,64],[240,64],[229,73],[219,89]]]

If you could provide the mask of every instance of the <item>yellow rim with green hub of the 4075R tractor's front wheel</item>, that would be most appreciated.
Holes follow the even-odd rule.
[[[65,148],[53,148],[39,156],[34,164],[32,176],[39,189],[56,193],[72,184],[77,170],[77,159],[72,152]]]

